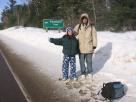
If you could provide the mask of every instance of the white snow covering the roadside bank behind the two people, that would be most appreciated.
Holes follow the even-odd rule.
[[[25,56],[35,63],[38,66],[35,70],[57,80],[61,74],[62,47],[49,43],[48,38],[59,38],[64,34],[64,32],[46,32],[43,29],[31,27],[9,28],[0,31],[0,40],[8,44],[18,55]],[[100,89],[103,82],[120,80],[125,83],[128,87],[127,95],[119,102],[135,102],[136,100],[135,45],[136,32],[98,32],[98,47],[93,57],[93,84],[95,88]],[[78,71],[80,70],[79,62],[78,56],[76,57]],[[86,88],[90,85],[88,83],[89,80],[86,80],[77,90]]]

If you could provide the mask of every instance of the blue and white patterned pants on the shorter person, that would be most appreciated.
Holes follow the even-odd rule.
[[[70,76],[71,78],[76,78],[76,58],[75,56],[64,55],[62,73],[63,78],[68,79],[69,77],[69,67],[70,67]]]

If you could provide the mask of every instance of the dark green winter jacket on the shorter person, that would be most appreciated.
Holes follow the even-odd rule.
[[[50,42],[63,46],[64,55],[74,56],[79,53],[78,40],[75,36],[64,35],[62,38],[50,38]]]

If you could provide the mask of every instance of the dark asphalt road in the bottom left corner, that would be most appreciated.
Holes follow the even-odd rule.
[[[0,51],[0,102],[27,102]]]

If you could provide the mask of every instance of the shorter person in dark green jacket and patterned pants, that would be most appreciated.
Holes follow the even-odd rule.
[[[62,80],[69,79],[69,67],[70,76],[73,80],[76,80],[76,58],[75,55],[79,53],[78,40],[74,36],[73,28],[66,28],[66,34],[62,38],[50,38],[49,41],[55,45],[63,46],[63,65],[62,65]]]

